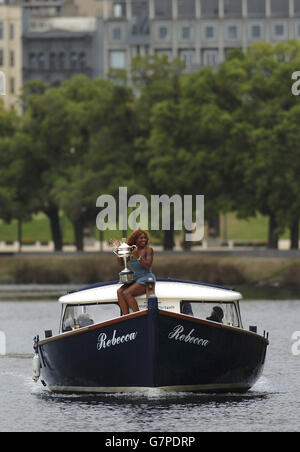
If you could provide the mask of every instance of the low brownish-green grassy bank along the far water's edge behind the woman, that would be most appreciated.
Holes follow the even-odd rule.
[[[155,256],[154,273],[225,286],[300,289],[300,263],[294,259]],[[117,279],[113,255],[12,256],[0,258],[0,284],[92,284]]]

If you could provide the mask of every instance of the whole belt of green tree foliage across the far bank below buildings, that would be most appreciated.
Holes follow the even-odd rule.
[[[216,71],[186,75],[180,60],[154,55],[134,59],[131,77],[30,82],[22,118],[0,103],[0,217],[43,211],[59,247],[63,211],[80,248],[98,196],[126,186],[204,194],[206,218],[264,215],[276,238],[300,217],[299,68],[290,41],[234,50]]]

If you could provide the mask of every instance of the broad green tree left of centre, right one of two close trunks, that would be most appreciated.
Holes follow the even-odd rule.
[[[101,194],[117,197],[120,186],[134,186],[133,96],[107,80],[76,77],[62,86],[71,125],[73,161],[57,180],[57,202],[74,225],[83,250],[83,228],[94,223]]]

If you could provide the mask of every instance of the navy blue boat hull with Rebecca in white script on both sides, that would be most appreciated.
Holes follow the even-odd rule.
[[[57,392],[245,392],[267,345],[254,333],[153,310],[46,339],[39,355],[42,379]]]

